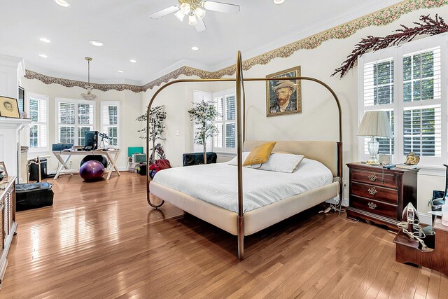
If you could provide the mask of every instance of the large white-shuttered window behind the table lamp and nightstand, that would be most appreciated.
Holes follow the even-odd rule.
[[[365,111],[388,111],[393,138],[379,139],[379,153],[392,154],[394,162],[405,161],[411,151],[423,165],[447,160],[447,95],[442,88],[447,85],[447,37],[431,36],[359,59],[359,120]],[[360,157],[367,154],[365,139]]]

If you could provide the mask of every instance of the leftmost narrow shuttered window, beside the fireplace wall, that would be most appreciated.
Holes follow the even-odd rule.
[[[48,151],[48,97],[29,92],[29,151]]]

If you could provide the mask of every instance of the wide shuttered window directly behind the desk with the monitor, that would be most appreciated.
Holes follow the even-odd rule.
[[[84,146],[84,133],[94,130],[94,102],[56,99],[57,142]]]

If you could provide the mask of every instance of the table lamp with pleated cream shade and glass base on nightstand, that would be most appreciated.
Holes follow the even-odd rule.
[[[386,111],[367,111],[363,116],[363,120],[358,128],[358,136],[370,137],[367,143],[370,158],[367,160],[368,165],[378,165],[378,149],[379,142],[377,138],[391,138],[392,130],[389,124],[389,118]]]

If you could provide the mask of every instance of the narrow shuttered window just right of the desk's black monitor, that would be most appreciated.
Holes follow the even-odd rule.
[[[110,146],[118,146],[118,120],[120,102],[101,102],[101,132],[106,133],[111,139]]]

